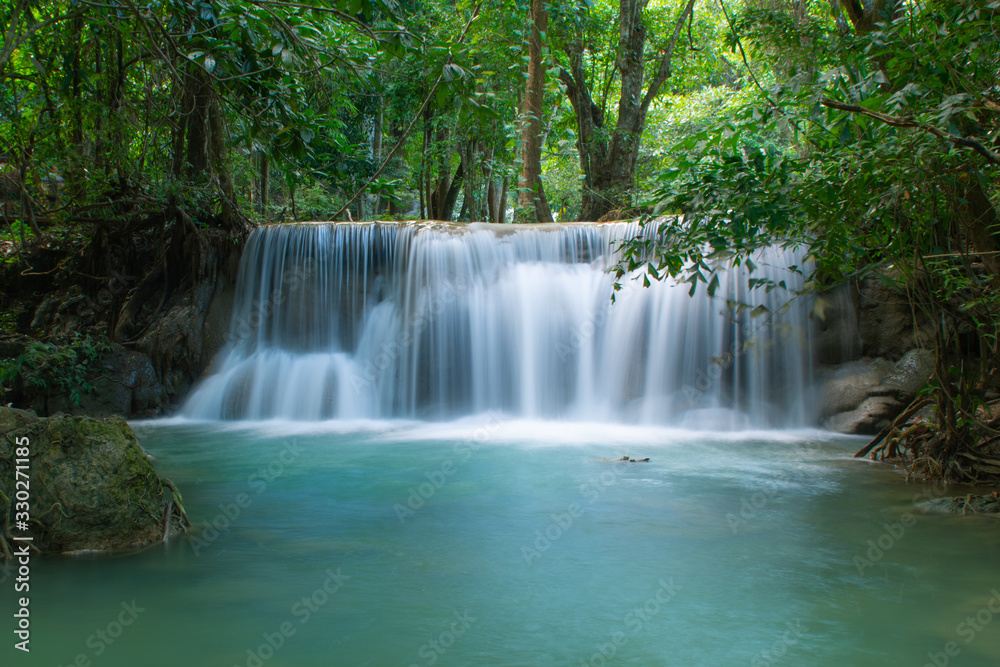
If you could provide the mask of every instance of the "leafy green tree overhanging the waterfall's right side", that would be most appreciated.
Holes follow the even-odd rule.
[[[933,427],[880,451],[909,449],[935,476],[982,478],[992,472],[977,443],[997,427],[982,406],[1000,380],[1000,9],[842,5],[853,30],[771,9],[733,21],[751,71],[787,75],[675,147],[660,197],[683,217],[632,241],[618,275],[645,269],[711,293],[718,270],[782,244],[807,249],[813,292],[875,275],[894,283],[934,330],[936,411]]]

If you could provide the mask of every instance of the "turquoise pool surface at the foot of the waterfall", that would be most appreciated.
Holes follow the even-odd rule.
[[[3,665],[1000,664],[995,520],[921,512],[939,490],[850,460],[857,439],[496,413],[138,430],[199,526],[35,559],[32,652],[8,637]]]

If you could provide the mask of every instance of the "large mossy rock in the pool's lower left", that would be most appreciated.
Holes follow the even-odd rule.
[[[25,418],[12,412],[0,408],[0,424]],[[121,417],[59,414],[0,436],[0,509],[11,528],[15,448],[24,437],[31,461],[28,533],[41,552],[134,549],[163,539],[172,495]]]

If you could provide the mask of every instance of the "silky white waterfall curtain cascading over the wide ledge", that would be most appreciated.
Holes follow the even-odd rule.
[[[243,256],[229,343],[183,414],[805,424],[801,300],[749,290],[736,269],[714,298],[623,280],[612,303],[613,248],[639,233],[634,223],[262,227]],[[755,261],[754,277],[801,285],[793,251]]]

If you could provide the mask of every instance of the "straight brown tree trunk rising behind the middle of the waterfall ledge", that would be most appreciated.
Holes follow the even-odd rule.
[[[530,222],[552,222],[552,211],[542,185],[542,100],[545,64],[542,34],[548,30],[549,13],[543,0],[531,2],[531,37],[528,39],[528,80],[524,91],[521,130],[521,178],[517,202]]]

